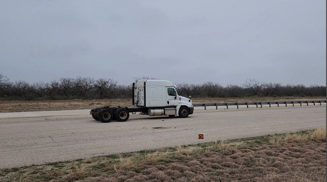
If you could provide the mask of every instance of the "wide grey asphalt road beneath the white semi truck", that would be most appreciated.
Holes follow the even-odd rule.
[[[326,105],[195,110],[188,118],[131,114],[110,123],[84,111],[41,113],[0,115],[0,168],[326,127]]]

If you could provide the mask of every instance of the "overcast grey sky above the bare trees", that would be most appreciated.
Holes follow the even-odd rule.
[[[326,1],[2,0],[0,74],[326,85]]]

